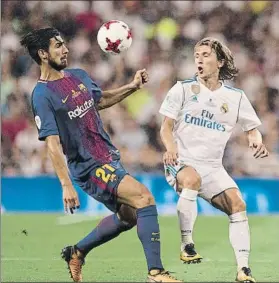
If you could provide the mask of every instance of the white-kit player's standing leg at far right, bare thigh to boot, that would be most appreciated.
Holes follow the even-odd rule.
[[[229,236],[237,262],[237,282],[256,282],[249,268],[250,231],[246,204],[237,188],[228,189],[212,199],[212,204],[230,219]]]

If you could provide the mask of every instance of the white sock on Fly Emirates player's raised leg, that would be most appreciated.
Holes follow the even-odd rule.
[[[177,202],[177,213],[181,231],[181,251],[185,246],[194,243],[192,238],[194,224],[198,214],[197,207],[198,191],[182,189]]]

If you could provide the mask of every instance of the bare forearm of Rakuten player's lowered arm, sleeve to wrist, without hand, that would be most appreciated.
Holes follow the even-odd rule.
[[[68,167],[66,165],[59,136],[48,136],[46,138],[48,154],[51,158],[55,172],[60,180],[62,187],[71,186],[72,181],[69,177]]]

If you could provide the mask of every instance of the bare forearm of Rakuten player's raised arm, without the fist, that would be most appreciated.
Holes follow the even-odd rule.
[[[97,105],[98,110],[102,110],[119,103],[139,88],[134,84],[127,84],[120,88],[103,91],[102,97]]]

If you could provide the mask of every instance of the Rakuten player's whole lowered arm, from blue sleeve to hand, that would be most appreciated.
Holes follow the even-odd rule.
[[[60,145],[54,110],[44,90],[34,91],[32,95],[32,110],[38,128],[39,140],[46,141],[48,154],[62,185],[65,210],[70,210],[73,213],[73,209],[79,207],[79,199],[69,177]]]

